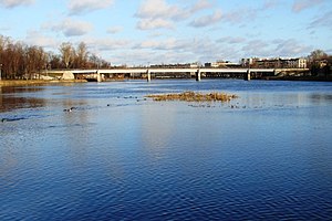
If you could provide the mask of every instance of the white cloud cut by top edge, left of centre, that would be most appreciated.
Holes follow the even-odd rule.
[[[114,0],[70,0],[69,10],[70,14],[80,14],[84,12],[105,9],[112,6]]]

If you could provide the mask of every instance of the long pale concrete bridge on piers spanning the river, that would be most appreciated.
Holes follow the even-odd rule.
[[[214,69],[214,67],[188,67],[188,69],[157,69],[157,67],[132,67],[132,69],[108,69],[108,70],[70,70],[70,71],[48,71],[48,73],[63,74],[65,72],[77,75],[85,74],[86,80],[94,80],[102,82],[105,74],[141,74],[145,75],[147,81],[152,81],[152,74],[169,74],[169,73],[194,73],[196,81],[201,80],[203,73],[210,74],[239,74],[243,76],[243,80],[250,81],[252,73],[271,73],[277,75],[286,72],[305,72],[308,69]]]

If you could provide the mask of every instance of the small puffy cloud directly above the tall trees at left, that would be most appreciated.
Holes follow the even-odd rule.
[[[62,32],[65,36],[80,36],[90,32],[93,27],[89,22],[65,19],[60,24],[51,25],[53,31]]]

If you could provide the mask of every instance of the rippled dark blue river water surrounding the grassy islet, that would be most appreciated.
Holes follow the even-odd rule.
[[[239,98],[145,98],[188,90]],[[134,81],[0,92],[0,220],[332,219],[331,83]]]

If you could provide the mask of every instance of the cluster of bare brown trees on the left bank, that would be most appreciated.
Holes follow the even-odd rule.
[[[74,46],[63,42],[59,53],[46,52],[41,46],[28,45],[0,35],[1,78],[32,78],[46,70],[107,69],[111,64],[89,52],[84,42]]]

